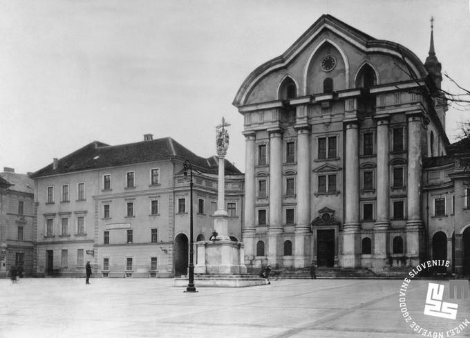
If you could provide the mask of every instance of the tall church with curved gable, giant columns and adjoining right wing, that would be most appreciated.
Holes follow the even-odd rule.
[[[440,272],[468,274],[470,173],[445,133],[441,82],[432,29],[423,63],[331,15],[252,71],[233,102],[247,266],[391,276],[446,259]]]

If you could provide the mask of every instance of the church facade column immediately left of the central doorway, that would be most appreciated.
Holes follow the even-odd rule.
[[[297,223],[294,236],[294,267],[308,266],[306,247],[310,238],[310,127],[297,128]]]

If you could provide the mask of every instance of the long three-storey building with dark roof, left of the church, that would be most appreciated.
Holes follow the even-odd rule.
[[[189,160],[194,176],[194,241],[212,234],[217,161],[171,138],[110,146],[92,142],[32,175],[37,203],[38,274],[186,274]],[[229,231],[241,238],[243,175],[226,161]]]

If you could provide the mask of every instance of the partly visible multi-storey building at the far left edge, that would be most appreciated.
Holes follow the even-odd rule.
[[[10,267],[32,274],[34,184],[26,174],[5,167],[0,173],[0,276]]]

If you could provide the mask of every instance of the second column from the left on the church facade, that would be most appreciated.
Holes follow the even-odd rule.
[[[267,230],[267,261],[272,267],[277,264],[277,247],[282,228],[282,131],[270,132],[270,220]]]

